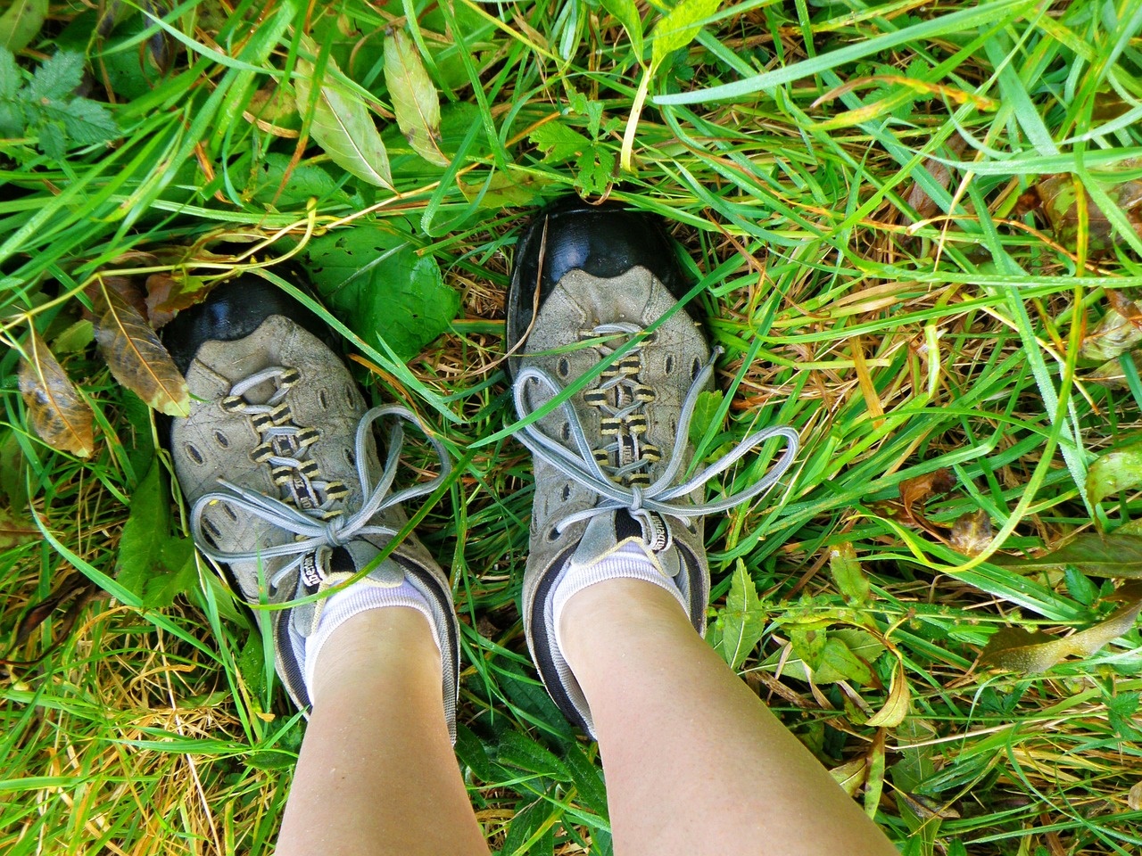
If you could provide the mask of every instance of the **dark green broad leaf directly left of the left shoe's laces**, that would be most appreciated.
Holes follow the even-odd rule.
[[[144,608],[169,606],[198,581],[194,547],[170,534],[170,491],[163,468],[151,468],[131,494],[130,514],[119,539],[115,581],[136,595]]]

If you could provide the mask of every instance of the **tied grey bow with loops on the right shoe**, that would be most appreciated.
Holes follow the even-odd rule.
[[[579,414],[576,413],[570,399],[562,402],[560,409],[563,411],[570,426],[573,447],[564,445],[545,434],[539,428],[538,420],[523,426],[518,430],[515,435],[516,438],[533,455],[555,467],[572,482],[603,496],[602,502],[594,508],[584,509],[582,511],[577,511],[564,517],[556,524],[556,532],[562,534],[573,523],[620,509],[629,511],[630,516],[642,524],[644,532],[654,532],[660,527],[652,519],[651,514],[653,512],[662,518],[662,524],[666,526],[666,546],[662,549],[667,549],[673,542],[670,526],[666,520],[667,517],[673,517],[681,520],[683,525],[689,526],[693,517],[725,511],[764,493],[777,484],[778,479],[793,466],[794,459],[797,457],[799,439],[797,431],[793,428],[766,428],[751,434],[738,443],[733,451],[718,461],[695,473],[685,482],[677,485],[673,484],[685,459],[685,446],[690,436],[690,422],[693,419],[698,396],[702,391],[706,381],[714,374],[714,363],[721,354],[722,348],[715,348],[709,361],[702,366],[690,385],[690,389],[682,404],[682,412],[678,415],[674,446],[670,450],[666,467],[662,469],[662,474],[649,486],[624,486],[616,484],[606,476],[602,466],[595,460],[592,446],[587,441],[586,431],[584,431],[582,422],[579,420]],[[560,385],[541,369],[534,366],[522,369],[513,385],[515,409],[521,419],[532,412],[532,407],[526,399],[526,388],[529,385],[545,387],[553,396],[562,391]],[[724,473],[743,455],[771,437],[783,437],[786,449],[780,460],[770,468],[770,471],[761,481],[743,491],[732,493],[713,502],[690,503],[677,501],[679,498],[686,496],[695,487],[705,485],[715,476]]]

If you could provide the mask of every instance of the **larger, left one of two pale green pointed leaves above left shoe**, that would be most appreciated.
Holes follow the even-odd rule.
[[[301,45],[313,56],[317,55],[317,46],[308,37],[303,37]],[[314,80],[315,71],[308,59],[298,58],[293,89],[298,112],[309,116],[309,136],[349,175],[392,189],[388,153],[364,100],[337,79],[332,57],[327,59],[321,80]]]

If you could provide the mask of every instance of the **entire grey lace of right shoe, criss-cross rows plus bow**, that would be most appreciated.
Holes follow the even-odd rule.
[[[633,324],[604,324],[595,328],[594,332],[636,333],[640,332],[640,329]],[[632,414],[636,413],[646,403],[645,396],[643,396],[643,399],[640,401],[640,397],[634,395],[634,390],[637,387],[644,386],[640,382],[637,377],[637,363],[635,361],[627,362],[632,354],[635,354],[637,358],[640,347],[641,346],[636,345],[635,348],[627,352],[626,356],[624,356],[616,364],[618,366],[617,373],[613,372],[614,366],[604,369],[600,375],[602,378],[602,382],[594,389],[588,389],[584,393],[585,401],[593,401],[590,393],[594,390],[612,388],[620,385],[629,387],[632,391],[632,401],[624,405],[621,397],[617,396],[617,404],[619,404],[619,406],[604,410],[604,413],[609,413],[609,415],[604,415],[604,419],[618,419],[620,425],[622,425],[624,421],[629,425]],[[604,354],[604,358],[613,354],[614,349],[608,348],[606,352],[608,353]],[[628,475],[637,468],[649,467],[650,463],[659,460],[658,450],[654,446],[649,446],[649,444],[643,444],[643,454],[638,454],[637,435],[641,434],[642,430],[645,430],[645,415],[643,415],[642,420],[635,420],[634,422],[636,427],[641,425],[642,430],[635,430],[633,433],[628,431],[628,434],[634,435],[634,441],[628,442],[634,460],[629,463],[624,463],[620,459],[618,467],[606,467],[601,460],[605,460],[609,457],[609,453],[614,451],[616,444],[612,443],[601,450],[593,449],[587,439],[579,414],[576,412],[576,409],[571,404],[570,399],[563,401],[560,404],[560,409],[566,418],[570,427],[569,443],[564,444],[553,437],[549,437],[539,428],[538,420],[520,428],[515,435],[516,438],[523,443],[523,445],[526,446],[531,453],[536,455],[536,458],[545,461],[552,467],[555,467],[572,482],[594,491],[603,498],[602,501],[593,508],[584,509],[582,511],[577,511],[564,517],[558,524],[556,524],[556,532],[562,534],[568,526],[573,523],[578,523],[579,520],[586,520],[597,515],[626,509],[632,517],[642,524],[643,532],[649,533],[649,540],[651,541],[650,546],[652,549],[664,550],[668,549],[673,543],[673,533],[669,522],[666,518],[675,518],[683,525],[690,526],[691,520],[694,517],[702,517],[705,515],[729,510],[764,493],[777,484],[781,476],[783,476],[789,467],[793,466],[799,447],[797,431],[793,428],[780,426],[765,428],[749,435],[738,443],[733,450],[714,463],[695,473],[684,482],[675,484],[678,471],[682,469],[683,462],[686,458],[685,449],[690,436],[690,422],[693,419],[698,396],[701,394],[706,382],[710,379],[710,377],[713,377],[714,364],[722,353],[723,350],[721,347],[715,348],[709,361],[701,368],[698,374],[694,375],[694,379],[690,385],[690,389],[686,391],[686,396],[683,399],[681,413],[678,414],[674,446],[666,460],[666,466],[662,468],[661,475],[659,475],[659,477],[652,483],[632,483],[629,478],[621,479],[626,481],[626,484],[620,484],[616,481],[617,477]],[[627,369],[624,369],[625,363],[628,366]],[[630,371],[630,368],[635,368],[635,370]],[[556,382],[550,374],[544,370],[534,366],[522,369],[516,375],[515,383],[513,385],[516,412],[521,418],[526,418],[532,412],[532,407],[528,402],[526,395],[529,386],[546,388],[553,396],[556,396],[562,391],[562,387],[558,382]],[[697,487],[705,485],[715,476],[727,470],[743,455],[748,454],[750,451],[772,437],[785,438],[785,452],[782,452],[781,458],[777,461],[777,463],[774,463],[770,468],[769,473],[766,473],[765,476],[763,476],[758,482],[742,491],[731,493],[722,499],[710,502],[691,503],[690,501],[683,499]],[[621,434],[619,435],[617,442],[621,449],[625,442]],[[648,447],[653,450],[653,453],[649,457],[645,454],[645,450]],[[600,454],[601,452],[603,452],[603,454]],[[649,482],[649,476],[646,477],[646,482]]]

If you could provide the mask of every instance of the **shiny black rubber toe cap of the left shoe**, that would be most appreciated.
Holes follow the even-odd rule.
[[[178,313],[162,329],[162,342],[185,374],[203,342],[243,339],[271,315],[283,315],[327,344],[333,341],[329,326],[284,291],[260,276],[242,274],[218,285],[201,304]]]

